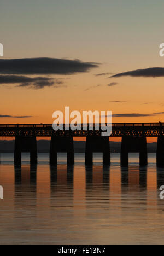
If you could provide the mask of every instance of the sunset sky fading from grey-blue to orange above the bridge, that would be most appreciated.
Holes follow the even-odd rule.
[[[114,122],[164,121],[164,77],[111,74],[164,67],[163,0],[1,0],[0,43],[4,59],[51,57],[99,63],[87,73],[53,75],[58,88],[1,84],[0,123],[52,123],[52,113],[112,110]],[[2,59],[2,58],[1,58]],[[108,86],[108,85],[113,86]],[[67,86],[67,87],[66,87]],[[144,114],[121,117],[120,114]]]

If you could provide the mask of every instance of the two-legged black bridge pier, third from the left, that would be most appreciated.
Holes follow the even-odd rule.
[[[103,153],[103,165],[110,165],[109,137],[87,136],[85,147],[85,164],[93,165],[93,152]]]

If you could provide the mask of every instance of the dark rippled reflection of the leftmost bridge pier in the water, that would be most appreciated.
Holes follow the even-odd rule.
[[[22,231],[24,218],[28,229],[32,228],[30,219],[37,218],[37,165],[14,166],[15,172],[15,202],[14,218],[17,229]]]

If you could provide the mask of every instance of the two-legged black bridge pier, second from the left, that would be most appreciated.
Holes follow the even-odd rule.
[[[50,145],[50,164],[57,165],[57,152],[67,152],[67,164],[74,164],[74,146],[72,136],[52,136]]]

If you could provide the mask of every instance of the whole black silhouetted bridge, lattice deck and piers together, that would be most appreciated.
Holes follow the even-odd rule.
[[[30,152],[31,164],[37,163],[36,137],[51,137],[50,164],[57,164],[57,152],[67,152],[67,164],[74,164],[73,137],[86,137],[85,164],[93,164],[93,153],[103,153],[103,165],[110,165],[110,137],[122,137],[121,166],[128,166],[128,153],[139,152],[140,166],[148,164],[147,137],[157,137],[157,166],[164,167],[164,123],[113,123],[109,137],[102,130],[55,131],[52,124],[1,124],[1,137],[15,137],[14,162],[21,164],[21,152]],[[82,125],[81,125],[82,127]]]

